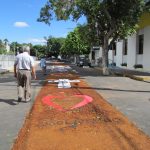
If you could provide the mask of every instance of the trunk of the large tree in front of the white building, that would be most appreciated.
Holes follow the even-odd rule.
[[[109,75],[108,70],[108,39],[104,38],[104,45],[102,47],[102,70],[103,75]]]

